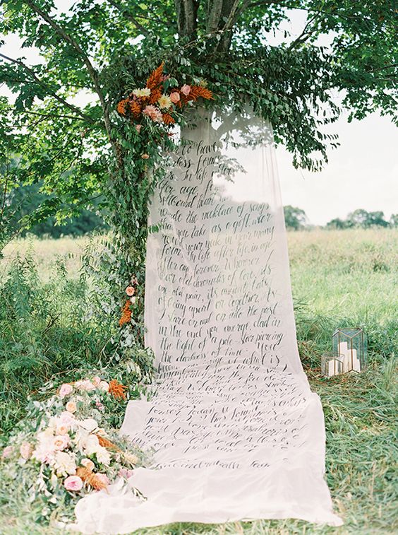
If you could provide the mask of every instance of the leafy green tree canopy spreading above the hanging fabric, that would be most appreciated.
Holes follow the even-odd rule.
[[[165,61],[182,79],[206,80],[219,102],[249,100],[272,122],[294,165],[318,170],[337,138],[324,127],[342,108],[361,119],[374,110],[397,121],[397,16],[393,1],[333,0],[7,0],[2,32],[41,61],[0,49],[1,165],[12,184],[42,181],[52,195],[42,211],[90,206],[111,180],[109,160],[128,148],[116,102]],[[58,6],[58,7],[57,7]],[[306,13],[301,35],[270,35]],[[327,46],[320,46],[326,35]],[[339,94],[339,99],[335,98]],[[123,146],[124,145],[124,146]],[[124,151],[126,152],[126,151]],[[119,158],[120,164],[121,158]],[[13,165],[11,165],[13,163]],[[6,202],[1,216],[4,219]],[[3,222],[4,223],[4,222]]]

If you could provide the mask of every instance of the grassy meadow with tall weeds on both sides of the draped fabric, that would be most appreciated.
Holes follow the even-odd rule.
[[[99,240],[99,238],[94,238]],[[398,232],[313,230],[288,233],[298,347],[320,395],[327,430],[326,478],[339,528],[298,520],[172,524],[140,535],[397,533]],[[90,283],[81,277],[87,237],[16,240],[0,260],[0,394],[3,436],[23,417],[27,395],[43,382],[102,365],[112,326],[86,319]],[[368,335],[366,372],[326,379],[320,356],[337,327]],[[18,492],[0,491],[0,533],[55,534]],[[138,532],[136,532],[138,535]]]

